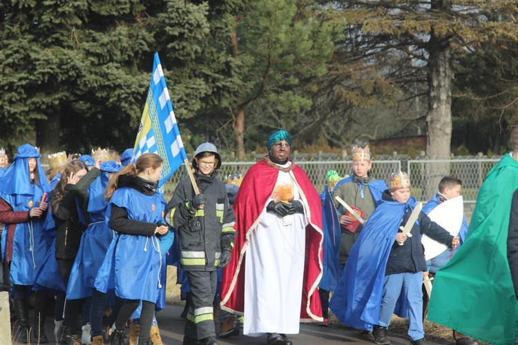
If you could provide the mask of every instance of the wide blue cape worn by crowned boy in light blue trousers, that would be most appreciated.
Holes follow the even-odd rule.
[[[390,249],[406,208],[415,204],[413,197],[407,204],[383,200],[367,220],[329,302],[343,324],[369,331],[378,324]]]

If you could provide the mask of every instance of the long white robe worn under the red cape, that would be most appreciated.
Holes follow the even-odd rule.
[[[279,171],[279,184],[293,184],[294,200],[300,199],[288,172]],[[294,222],[283,226],[281,217],[267,213],[266,206],[262,210],[245,255],[244,335],[299,332],[307,224],[305,215],[296,213]]]

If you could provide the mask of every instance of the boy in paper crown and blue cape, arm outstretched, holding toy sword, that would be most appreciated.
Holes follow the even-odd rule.
[[[340,322],[372,331],[374,342],[385,345],[390,344],[387,330],[396,311],[409,317],[410,344],[423,345],[421,284],[426,262],[421,235],[451,248],[459,244],[459,237],[450,235],[423,212],[414,224],[407,225],[416,206],[410,197],[410,178],[405,172],[394,173],[388,185],[381,204],[352,247],[329,306]],[[410,228],[408,236],[402,230],[405,226]]]

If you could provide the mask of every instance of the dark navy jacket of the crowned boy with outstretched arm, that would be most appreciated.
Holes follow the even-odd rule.
[[[383,193],[383,200],[394,201],[392,195],[388,190]],[[412,215],[413,208],[410,206],[405,210],[401,226],[407,224],[407,220]],[[398,233],[401,233],[401,229]],[[387,261],[387,268],[385,269],[385,275],[392,275],[396,273],[416,273],[419,271],[426,270],[425,255],[423,253],[423,245],[421,244],[421,235],[427,235],[435,241],[445,244],[446,246],[452,246],[453,236],[448,233],[444,228],[439,226],[437,223],[432,221],[428,215],[425,215],[421,211],[419,218],[412,226],[410,230],[412,237],[407,237],[403,245],[400,246],[394,241],[392,249],[390,250],[389,259]]]

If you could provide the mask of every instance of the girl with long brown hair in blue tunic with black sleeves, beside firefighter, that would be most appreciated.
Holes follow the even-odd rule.
[[[95,279],[106,293],[115,276],[115,295],[123,300],[115,324],[108,330],[110,344],[122,344],[124,325],[142,302],[137,345],[149,345],[151,323],[160,284],[160,240],[169,232],[164,222],[165,201],[156,193],[163,160],[154,153],[128,164],[106,187],[106,222],[115,235]],[[170,235],[169,233],[168,235]]]

